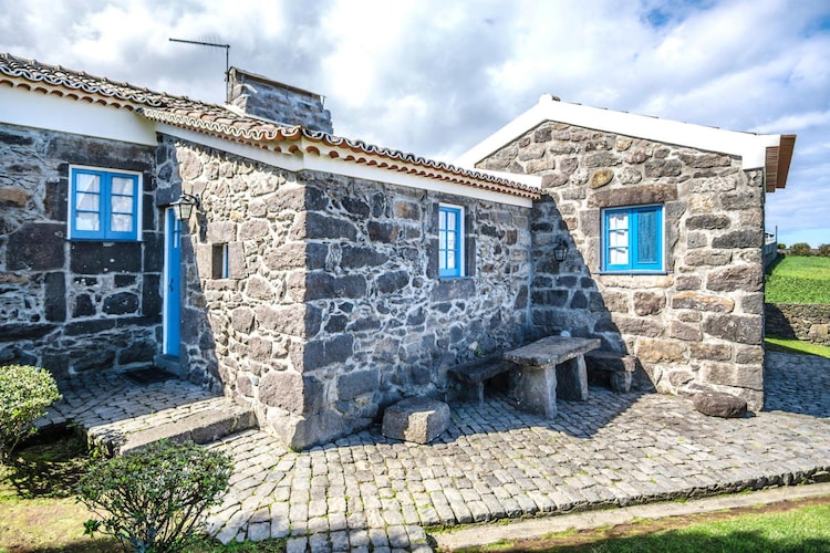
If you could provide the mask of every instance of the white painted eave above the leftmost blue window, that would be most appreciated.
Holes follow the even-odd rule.
[[[156,145],[155,124],[124,107],[0,85],[0,123]]]

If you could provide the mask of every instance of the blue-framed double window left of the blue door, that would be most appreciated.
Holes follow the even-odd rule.
[[[72,167],[70,238],[138,240],[138,175]]]

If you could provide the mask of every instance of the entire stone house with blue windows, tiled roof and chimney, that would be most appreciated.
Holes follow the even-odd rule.
[[[0,363],[155,363],[294,448],[562,331],[658,390],[762,405],[764,190],[793,137],[548,97],[448,165],[338,137],[321,96],[249,72],[229,98],[0,55]]]

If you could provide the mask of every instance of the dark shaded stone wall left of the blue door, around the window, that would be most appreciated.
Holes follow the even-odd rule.
[[[0,126],[0,363],[58,377],[152,363],[163,264],[152,161],[144,146]],[[70,164],[144,173],[142,242],[66,239]]]

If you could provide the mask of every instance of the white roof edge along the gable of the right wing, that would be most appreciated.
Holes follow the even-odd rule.
[[[463,167],[475,167],[478,161],[488,155],[546,121],[735,155],[743,159],[744,169],[764,167],[767,147],[778,146],[781,139],[780,135],[740,133],[627,112],[570,104],[553,100],[550,94],[543,94],[533,107],[461,154],[455,160],[455,164]]]

